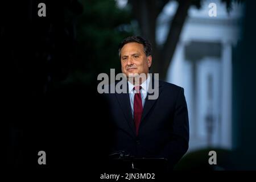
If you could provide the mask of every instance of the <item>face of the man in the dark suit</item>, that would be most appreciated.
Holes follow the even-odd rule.
[[[131,42],[125,44],[121,49],[122,73],[125,73],[127,77],[134,73],[147,74],[151,62],[152,56],[146,56],[143,44]]]

